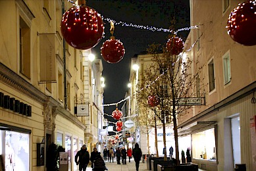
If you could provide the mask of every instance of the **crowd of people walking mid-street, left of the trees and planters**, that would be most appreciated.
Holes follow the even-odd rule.
[[[121,164],[120,163],[121,158],[122,158],[122,164],[126,164],[127,157],[130,162],[130,159],[132,159],[132,156],[133,156],[134,161],[136,163],[136,171],[139,170],[142,152],[138,143],[135,144],[135,147],[133,150],[131,148],[128,148],[126,151],[125,147],[122,147],[122,148],[117,147],[116,151],[114,151],[112,147],[109,150],[107,150],[107,148],[103,150],[104,160],[108,160],[109,162],[111,162],[111,159],[112,159],[112,162],[114,162],[115,156],[116,156],[117,164]],[[91,168],[93,168],[93,171],[108,170],[104,160],[101,157],[101,153],[97,151],[97,148],[93,148],[93,151],[91,152],[91,157],[90,157],[90,154],[86,148],[86,145],[82,145],[80,151],[78,151],[78,153],[76,153],[76,156],[75,156],[76,165],[79,164],[79,171],[82,171],[82,170],[85,171],[90,161],[91,161]]]

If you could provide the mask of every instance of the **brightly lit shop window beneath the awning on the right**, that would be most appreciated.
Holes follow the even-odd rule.
[[[192,134],[193,159],[216,160],[215,129]]]

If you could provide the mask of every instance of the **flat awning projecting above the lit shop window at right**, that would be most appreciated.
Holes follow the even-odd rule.
[[[193,122],[193,124],[178,129],[178,136],[192,134],[192,132],[213,126],[215,124],[217,124],[217,121]]]

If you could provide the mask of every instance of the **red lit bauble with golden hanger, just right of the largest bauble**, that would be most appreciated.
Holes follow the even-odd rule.
[[[115,39],[114,33],[114,23],[111,22],[111,34],[110,39],[105,41],[101,47],[101,56],[103,59],[109,63],[117,63],[124,57],[125,49],[124,45],[120,40]]]

